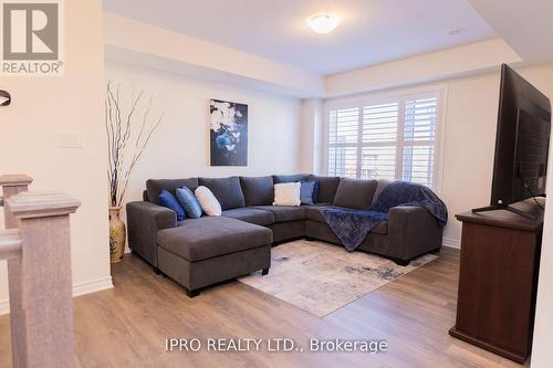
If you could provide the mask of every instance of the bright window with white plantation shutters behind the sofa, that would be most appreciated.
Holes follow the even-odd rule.
[[[328,175],[436,183],[439,93],[328,111]]]

